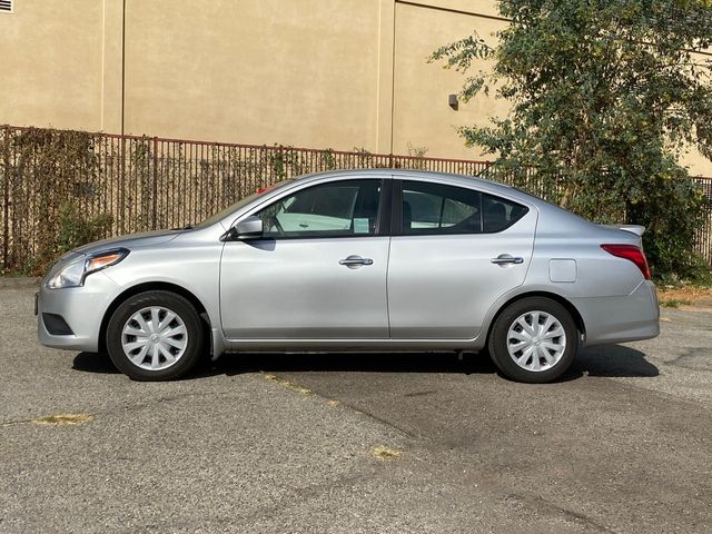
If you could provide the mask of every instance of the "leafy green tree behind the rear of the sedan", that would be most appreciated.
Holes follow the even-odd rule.
[[[712,1],[502,0],[500,12],[512,23],[495,47],[474,34],[431,58],[467,72],[464,100],[512,103],[461,128],[466,144],[516,186],[534,168],[562,207],[645,225],[657,273],[684,275],[704,200],[678,161],[690,147],[712,159],[712,61],[696,53],[712,44]]]

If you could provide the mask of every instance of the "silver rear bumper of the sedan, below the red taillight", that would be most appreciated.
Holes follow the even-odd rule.
[[[643,280],[630,295],[571,301],[586,327],[586,346],[650,339],[660,334],[657,295],[650,280]]]

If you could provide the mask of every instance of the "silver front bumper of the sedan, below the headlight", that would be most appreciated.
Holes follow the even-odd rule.
[[[103,273],[87,277],[81,287],[48,289],[42,281],[36,297],[37,334],[39,342],[52,348],[67,350],[99,350],[101,322],[109,305],[119,294],[119,286]],[[59,316],[69,326],[71,334],[51,334],[46,325],[46,314]]]

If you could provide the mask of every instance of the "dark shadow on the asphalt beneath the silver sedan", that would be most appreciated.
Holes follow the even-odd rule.
[[[87,373],[118,373],[106,354],[80,353],[72,368]],[[235,376],[245,373],[456,373],[498,374],[487,354],[465,353],[245,353],[226,354],[201,365],[186,379],[206,376]],[[645,354],[623,345],[582,349],[560,382],[582,376],[655,377],[657,367]]]

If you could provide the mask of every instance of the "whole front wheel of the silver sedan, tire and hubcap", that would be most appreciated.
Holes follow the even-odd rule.
[[[170,380],[200,358],[202,326],[180,295],[146,291],[123,301],[109,319],[107,349],[119,370],[135,380]]]

